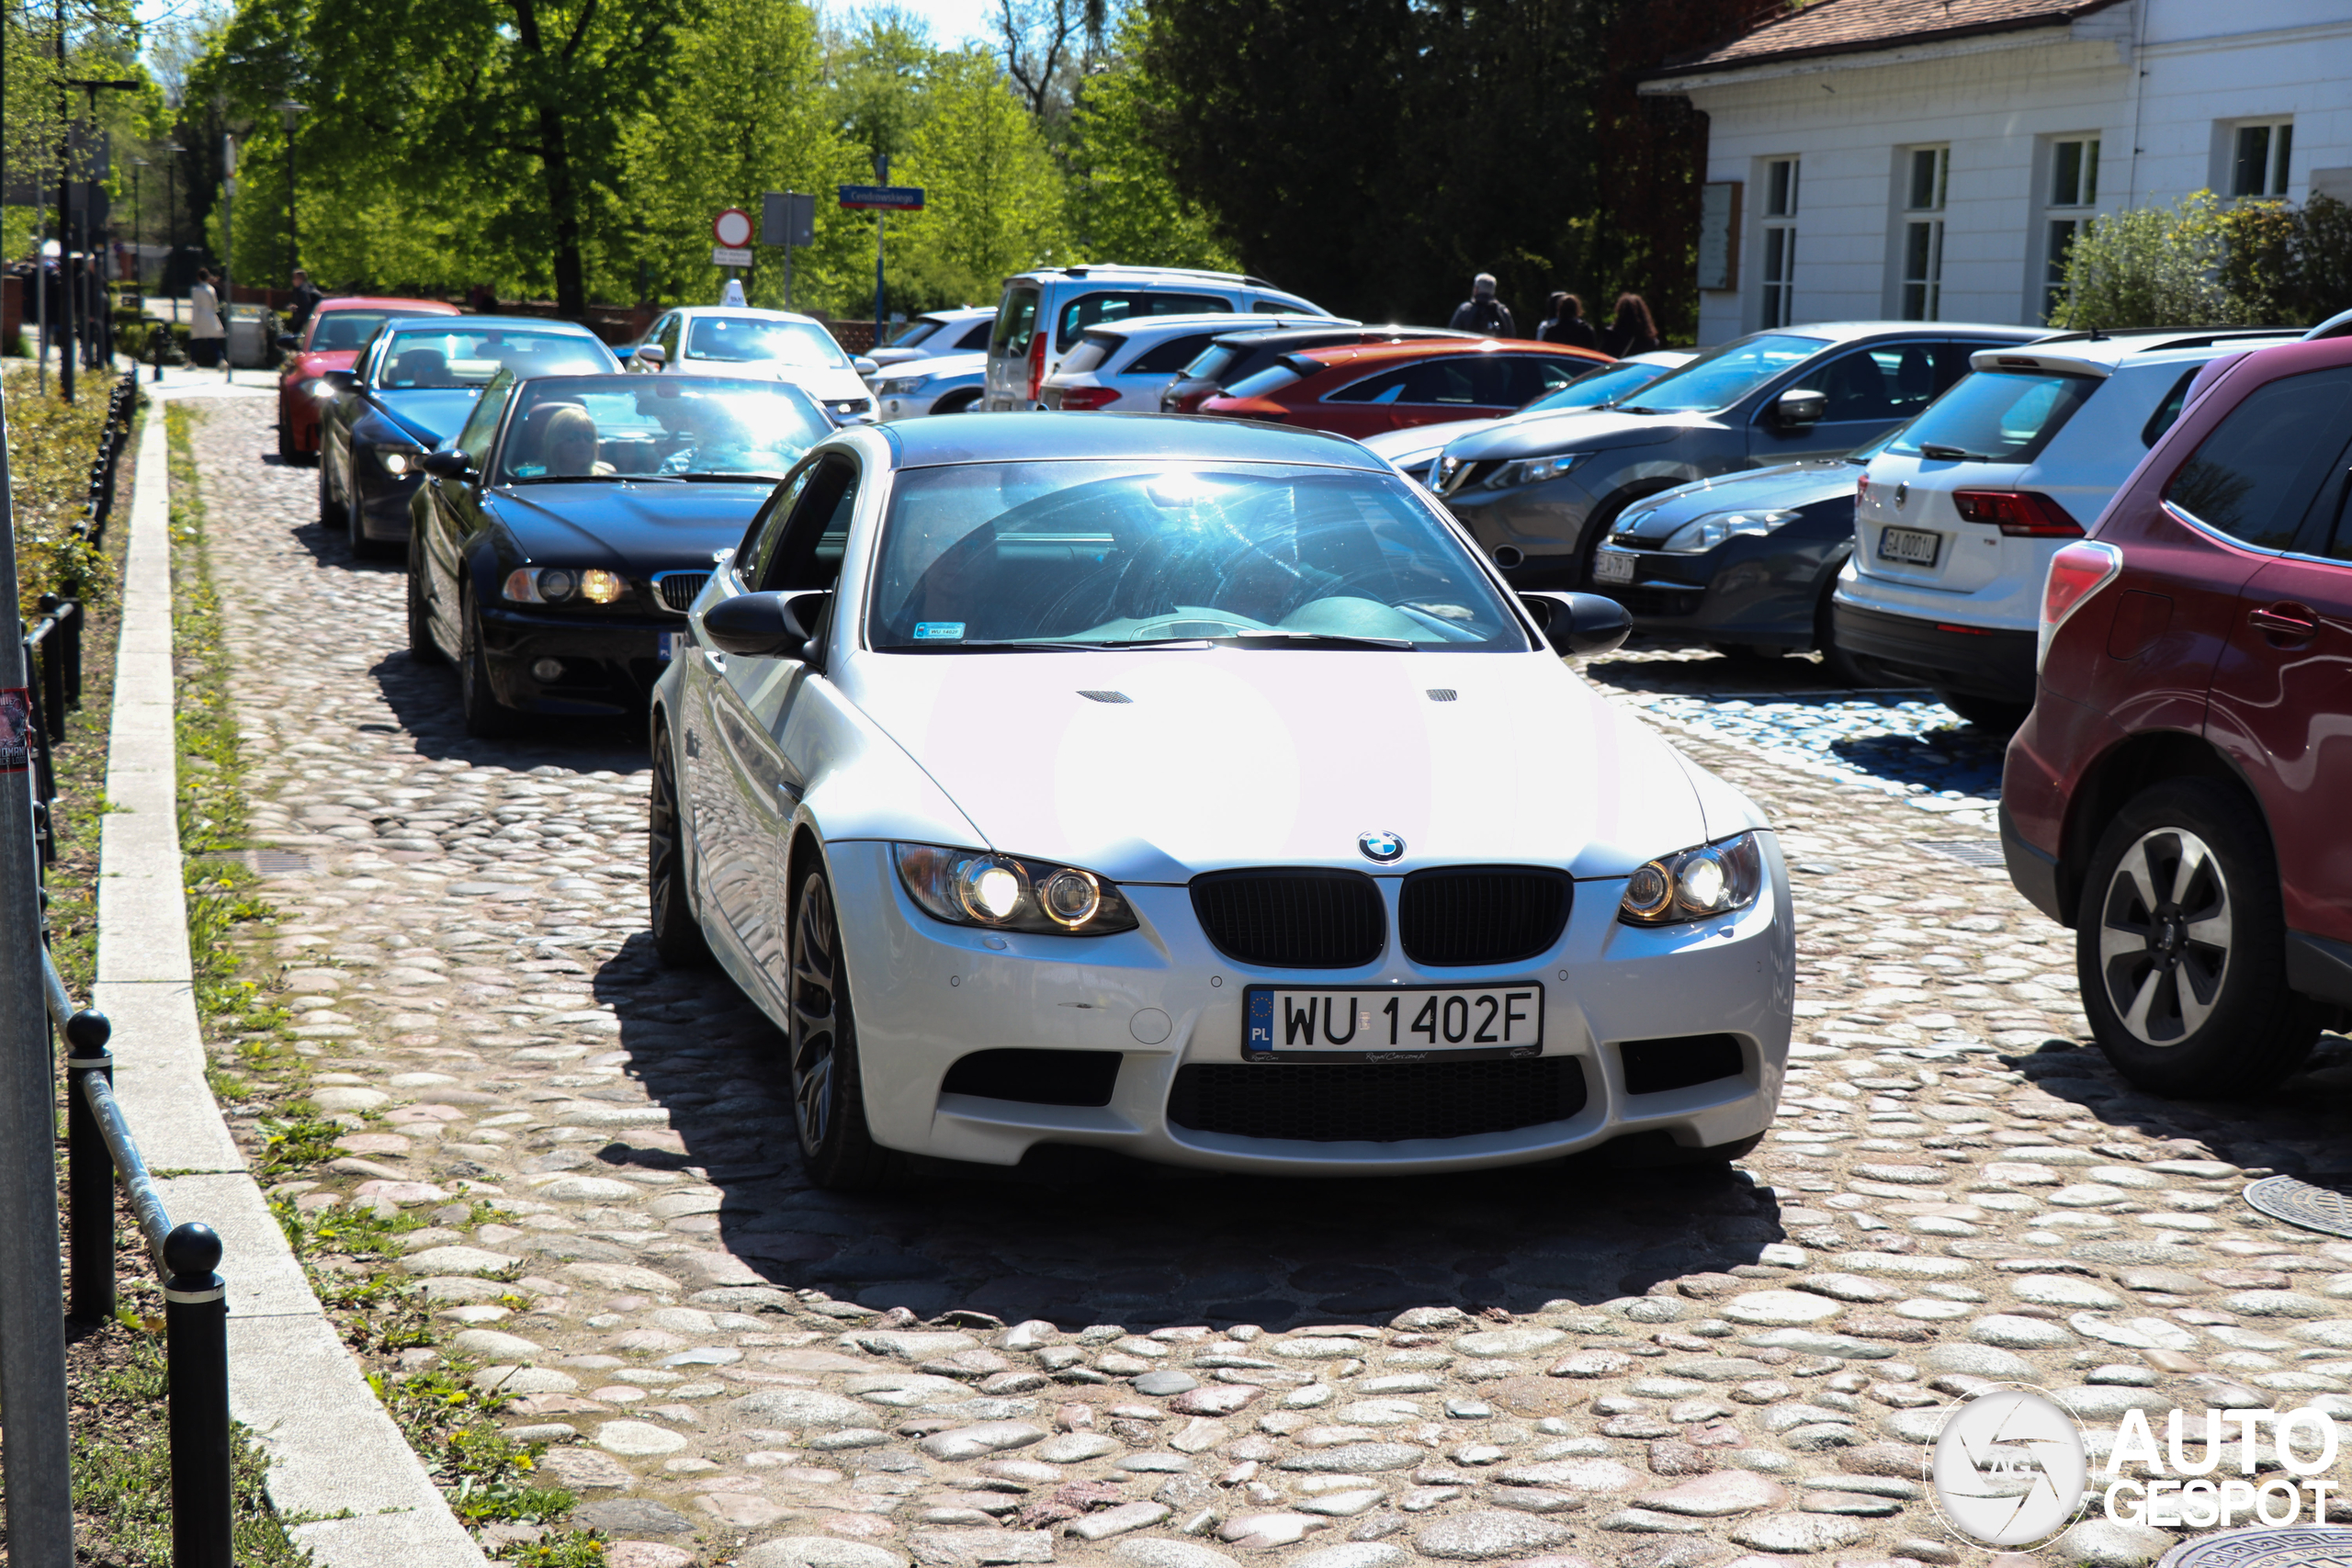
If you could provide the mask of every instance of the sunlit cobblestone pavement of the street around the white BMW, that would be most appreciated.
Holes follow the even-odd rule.
[[[1962,1563],[1919,1467],[1980,1380],[2053,1389],[2093,1453],[2133,1408],[2352,1413],[2352,1246],[2237,1199],[2336,1164],[2352,1046],[2256,1105],[2122,1086],[1973,806],[1778,755],[1818,762],[1830,703],[1912,715],[1877,729],[1966,790],[1987,743],[1785,696],[1799,663],[1748,708],[1703,698],[1719,661],[1595,668],[1790,849],[1799,1044],[1740,1168],[816,1192],[776,1034],[654,964],[640,743],[466,741],[397,567],[318,527],[266,418],[221,402],[198,444],[256,832],[306,865],[266,879],[259,969],[353,1128],[289,1190],[430,1220],[402,1267],[621,1568]],[[2044,1561],[2171,1540],[2091,1523]]]

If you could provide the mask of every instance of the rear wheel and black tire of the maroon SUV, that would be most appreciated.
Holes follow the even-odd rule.
[[[2286,912],[2260,806],[2213,778],[2136,795],[2098,839],[2074,919],[2098,1048],[2140,1088],[2260,1093],[2310,1056],[2324,1009],[2286,990]]]

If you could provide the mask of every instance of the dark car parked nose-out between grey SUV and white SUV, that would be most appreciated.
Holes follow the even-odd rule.
[[[1893,430],[1839,458],[1745,468],[1635,501],[1592,555],[1592,592],[1644,632],[1731,658],[1820,649],[1837,679],[1884,684],[1837,642],[1830,592],[1853,555],[1856,477],[1889,440]]]

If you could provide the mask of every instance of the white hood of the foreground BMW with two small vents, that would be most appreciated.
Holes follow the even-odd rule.
[[[1536,654],[858,654],[842,686],[990,849],[1117,882],[1374,870],[1364,832],[1399,872],[1623,877],[1710,837],[1672,748]]]

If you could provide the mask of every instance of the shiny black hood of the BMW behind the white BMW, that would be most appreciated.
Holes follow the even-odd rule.
[[[513,484],[487,491],[485,505],[527,559],[642,576],[708,567],[713,550],[743,543],[743,529],[774,489],[774,480]]]

